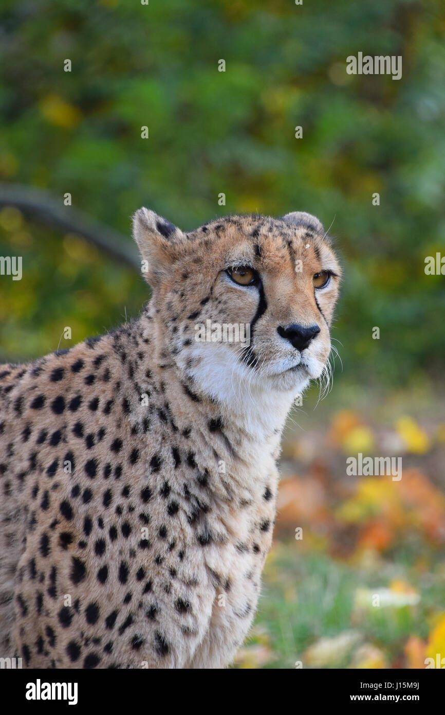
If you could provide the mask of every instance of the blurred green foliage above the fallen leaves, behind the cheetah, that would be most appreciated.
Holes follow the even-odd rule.
[[[185,230],[233,212],[335,217],[346,375],[438,371],[444,279],[424,258],[445,253],[439,0],[4,0],[0,21],[1,180],[69,191],[126,234],[144,204]],[[358,51],[402,55],[402,79],[347,75]],[[54,349],[64,325],[75,341],[103,332],[144,300],[126,270],[70,262],[61,239],[2,233],[2,255],[22,242],[26,263],[17,285],[1,280],[5,358]]]

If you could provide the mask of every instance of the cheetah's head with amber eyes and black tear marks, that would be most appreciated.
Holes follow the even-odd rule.
[[[187,379],[219,398],[243,385],[298,394],[326,370],[340,268],[315,217],[233,216],[184,234],[140,209],[134,234]]]

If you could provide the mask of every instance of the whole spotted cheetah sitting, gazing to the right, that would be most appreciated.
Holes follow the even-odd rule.
[[[0,371],[0,652],[25,667],[229,666],[271,546],[281,430],[326,369],[341,270],[314,216],[184,233],[141,208],[134,238],[139,317]],[[197,340],[209,321],[249,340]]]

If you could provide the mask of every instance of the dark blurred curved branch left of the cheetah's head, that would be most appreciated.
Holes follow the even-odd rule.
[[[43,189],[0,183],[0,208],[5,206],[14,206],[26,216],[63,232],[76,233],[114,260],[123,261],[141,272],[136,246],[129,243],[123,234],[90,219],[79,209],[64,206],[62,199],[55,199],[53,194]]]

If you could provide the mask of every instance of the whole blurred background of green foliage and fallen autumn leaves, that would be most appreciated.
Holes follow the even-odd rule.
[[[130,217],[141,205],[184,230],[234,212],[304,210],[326,228],[333,222],[345,274],[333,337],[344,370],[337,363],[328,405],[346,410],[334,413],[318,437],[304,415],[308,431],[302,438],[289,433],[290,502],[319,505],[322,495],[321,511],[282,517],[284,535],[289,523],[307,518],[313,538],[301,562],[295,544],[271,556],[259,613],[269,632],[260,628],[256,655],[241,658],[241,666],[253,657],[256,666],[293,667],[299,652],[326,633],[340,638],[331,650],[343,654],[341,663],[356,667],[416,667],[428,638],[433,650],[442,642],[445,656],[438,595],[445,575],[435,566],[445,508],[434,491],[444,488],[445,428],[432,419],[443,395],[445,290],[443,276],[424,272],[426,256],[445,254],[444,34],[440,0],[1,4],[1,182],[46,189],[61,206],[69,192],[76,209],[121,232],[128,245]],[[401,55],[402,78],[346,74],[346,57],[359,51]],[[71,72],[64,71],[66,59]],[[143,126],[148,139],[141,139]],[[295,138],[296,126],[303,127],[302,139]],[[218,204],[221,192],[225,206]],[[379,206],[372,204],[375,192]],[[136,315],[147,297],[130,268],[14,207],[0,210],[0,255],[23,256],[24,271],[21,281],[0,280],[1,361],[55,350],[66,325],[73,340],[61,347],[109,330]],[[371,337],[374,326],[379,340]],[[404,415],[400,395],[404,403],[411,395],[414,411],[423,405],[422,427]],[[366,418],[351,410],[359,401]],[[351,484],[342,490],[337,483],[334,491],[326,485],[323,450],[366,448],[411,455],[420,470],[420,485],[413,477],[411,492],[397,493],[399,511],[384,511],[395,497],[372,480],[364,493]],[[329,470],[344,475],[344,457]],[[309,477],[315,495],[307,490]],[[424,511],[419,507],[405,523],[400,510],[419,500]],[[430,533],[425,521],[433,504],[439,513]],[[326,521],[333,505],[334,521]],[[413,523],[418,541],[409,551],[404,529]],[[279,536],[281,527],[279,521]],[[343,551],[333,546],[339,535]],[[381,559],[394,566],[396,581]],[[289,574],[288,591],[283,583],[274,590],[277,563]],[[292,589],[308,569],[315,580],[309,587],[306,579],[297,613]],[[426,571],[420,610],[416,598],[399,598],[401,611],[368,620],[369,632],[357,636],[354,624],[364,616],[354,589],[383,580],[389,591],[406,595]],[[336,596],[316,603],[314,592]],[[351,625],[353,631],[344,630]],[[329,656],[323,661],[307,651],[306,661],[332,665]]]

